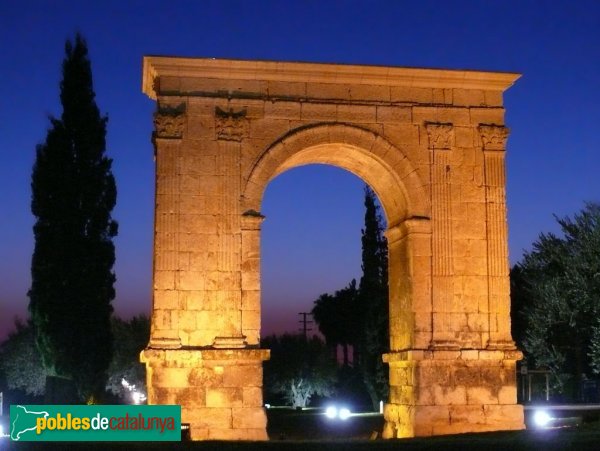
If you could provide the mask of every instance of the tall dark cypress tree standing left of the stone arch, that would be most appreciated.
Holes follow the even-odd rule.
[[[50,118],[32,173],[29,310],[49,374],[71,379],[89,399],[104,391],[112,355],[117,191],[85,40],[67,40],[65,53],[62,116]]]

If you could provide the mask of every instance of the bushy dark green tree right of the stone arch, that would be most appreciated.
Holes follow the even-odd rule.
[[[528,360],[549,368],[568,395],[584,374],[600,372],[600,205],[557,221],[563,236],[539,236],[513,268],[512,289],[524,304]]]

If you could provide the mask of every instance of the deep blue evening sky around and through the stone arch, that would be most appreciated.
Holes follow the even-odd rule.
[[[0,0],[0,339],[26,316],[33,250],[30,175],[48,115],[60,115],[64,41],[88,41],[109,115],[119,190],[116,311],[150,311],[154,103],[143,55],[519,72],[505,95],[511,262],[553,214],[600,193],[598,1]],[[263,335],[360,276],[363,182],[332,167],[276,178],[263,213]]]

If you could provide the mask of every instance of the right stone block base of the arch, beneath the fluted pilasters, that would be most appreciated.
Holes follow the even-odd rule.
[[[524,429],[517,404],[520,351],[390,353],[384,438]]]

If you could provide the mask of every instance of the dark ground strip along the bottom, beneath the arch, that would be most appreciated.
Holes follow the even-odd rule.
[[[326,420],[314,412],[270,411],[269,442],[180,443],[10,443],[7,450],[198,450],[198,451],[387,451],[387,450],[600,450],[597,423],[579,428],[545,431],[493,432],[401,440],[369,440],[381,430],[380,416],[352,417],[346,422]],[[3,448],[5,447],[5,448]]]

